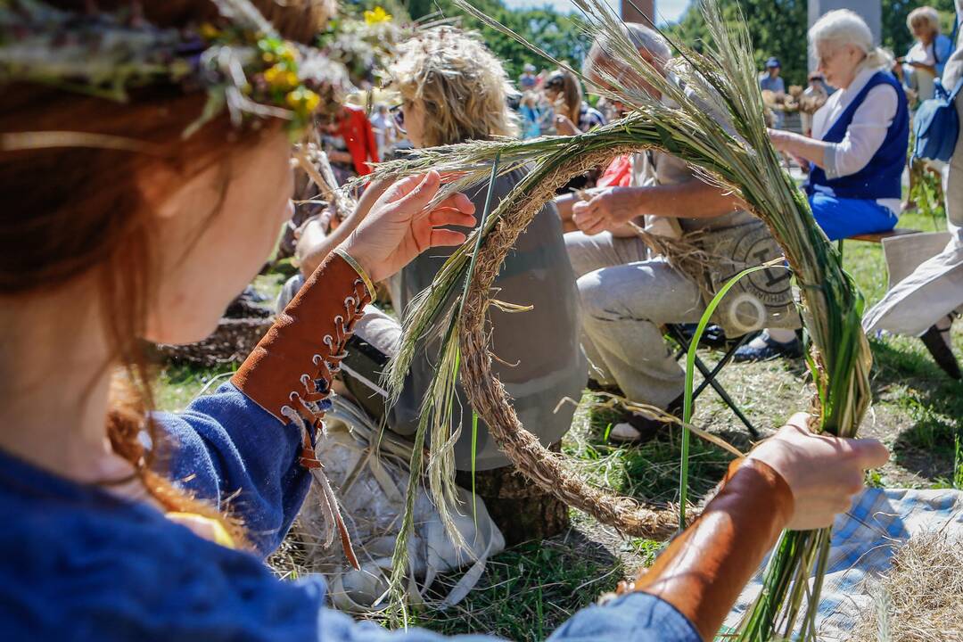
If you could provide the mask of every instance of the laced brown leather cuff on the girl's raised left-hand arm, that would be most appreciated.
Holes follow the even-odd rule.
[[[234,373],[231,382],[277,421],[313,427],[323,413],[307,402],[327,397],[340,368],[354,322],[371,296],[364,280],[338,254],[331,254]]]

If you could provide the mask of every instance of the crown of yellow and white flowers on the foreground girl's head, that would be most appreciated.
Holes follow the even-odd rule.
[[[351,90],[345,65],[283,39],[249,0],[213,0],[220,18],[195,29],[161,29],[136,4],[76,13],[40,0],[0,0],[0,84],[27,82],[118,101],[160,83],[202,90],[207,102],[187,131],[228,112],[288,121],[300,138]]]

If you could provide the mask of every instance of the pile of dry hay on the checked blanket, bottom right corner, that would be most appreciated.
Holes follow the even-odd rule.
[[[852,642],[963,640],[963,538],[914,535],[870,593]]]

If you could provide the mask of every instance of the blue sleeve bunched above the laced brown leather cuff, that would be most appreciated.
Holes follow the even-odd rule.
[[[154,417],[172,439],[159,463],[170,478],[240,517],[262,555],[276,549],[310,485],[298,465],[298,429],[231,383],[196,398],[182,414]]]

